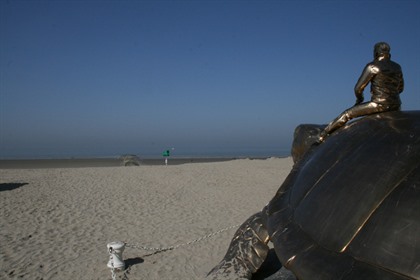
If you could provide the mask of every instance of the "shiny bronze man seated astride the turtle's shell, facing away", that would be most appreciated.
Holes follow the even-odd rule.
[[[404,90],[401,66],[391,60],[391,47],[385,42],[375,44],[374,60],[366,65],[354,87],[356,104],[334,119],[320,134],[318,143],[349,120],[380,112],[401,109],[400,93]],[[371,83],[370,102],[363,102],[363,90]]]

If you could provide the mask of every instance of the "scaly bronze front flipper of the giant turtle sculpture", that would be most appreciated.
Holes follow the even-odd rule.
[[[267,257],[268,241],[264,215],[258,212],[239,227],[225,257],[207,279],[251,279]]]

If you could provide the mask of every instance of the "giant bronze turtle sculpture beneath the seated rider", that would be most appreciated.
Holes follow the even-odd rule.
[[[299,280],[420,279],[420,111],[366,116],[312,145],[321,130],[296,129],[290,174],[209,279],[252,279],[269,241]]]

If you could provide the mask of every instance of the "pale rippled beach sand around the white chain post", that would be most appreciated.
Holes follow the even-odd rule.
[[[111,279],[109,242],[168,247],[241,224],[269,202],[292,164],[0,169],[0,278]],[[235,231],[156,254],[126,248],[125,277],[202,279]]]

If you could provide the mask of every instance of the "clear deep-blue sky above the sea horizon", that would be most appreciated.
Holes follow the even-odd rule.
[[[386,41],[420,109],[420,1],[0,1],[0,158],[290,150]],[[369,90],[365,99],[369,99]]]

